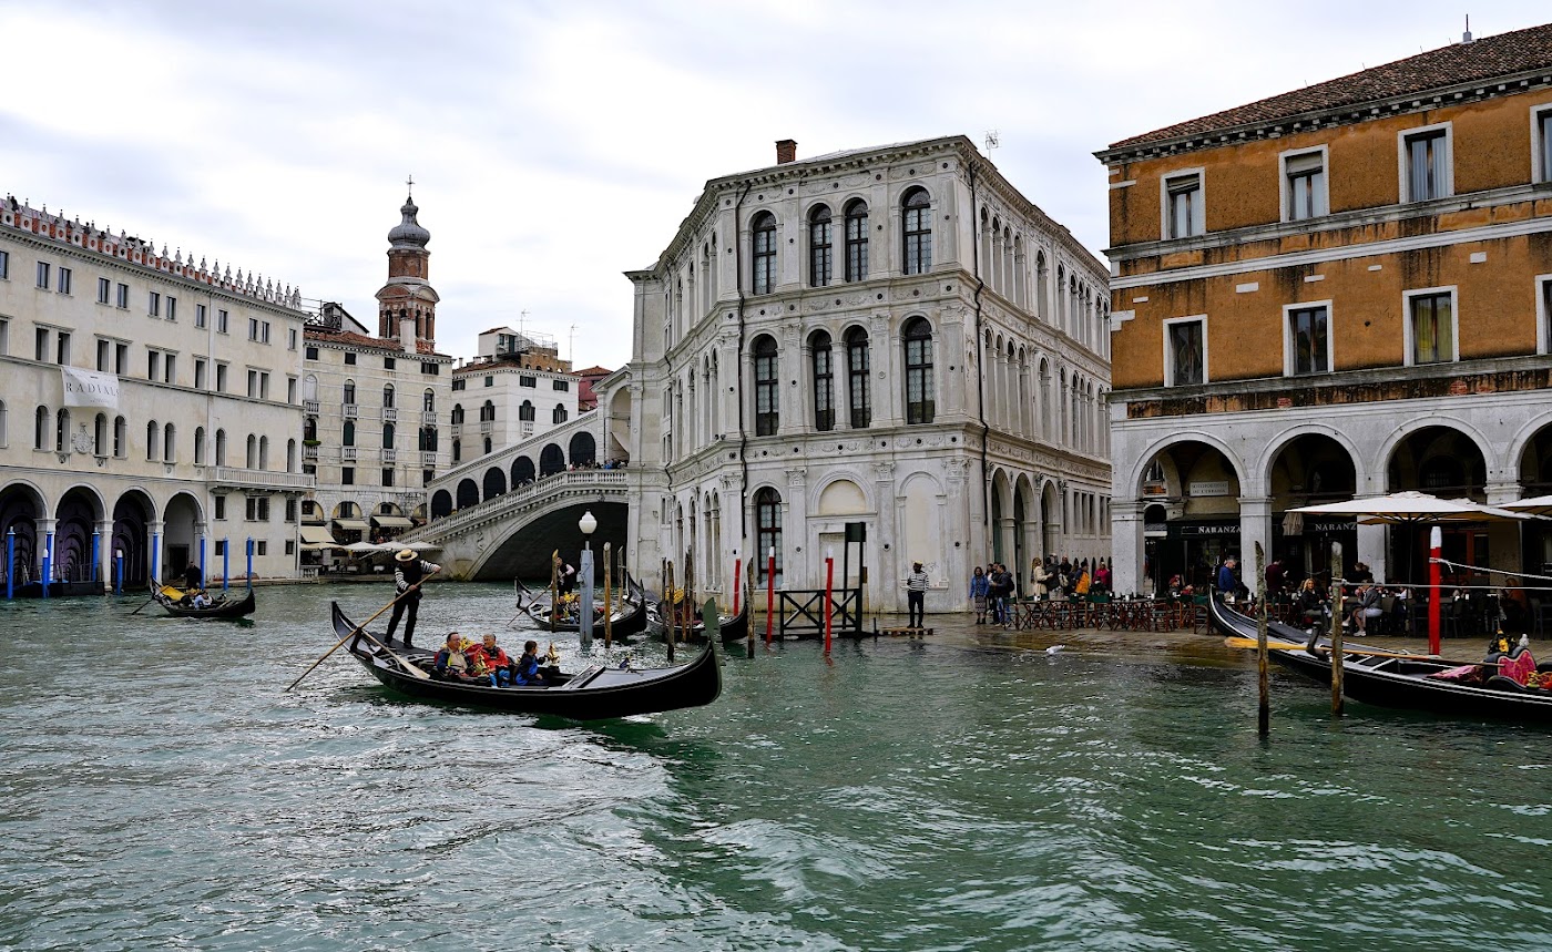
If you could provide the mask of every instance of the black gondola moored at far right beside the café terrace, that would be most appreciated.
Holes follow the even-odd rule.
[[[1234,611],[1217,598],[1211,600],[1209,612],[1214,628],[1226,637],[1256,637],[1256,619]],[[1268,651],[1273,661],[1327,687],[1332,684],[1330,645],[1277,622],[1268,623],[1266,629],[1270,637],[1304,645],[1273,648]],[[1507,657],[1518,659],[1518,651]],[[1526,657],[1524,664],[1530,664],[1530,659]],[[1498,667],[1496,657],[1479,665],[1460,665],[1425,656],[1412,659],[1344,653],[1342,690],[1353,701],[1378,707],[1460,718],[1552,723],[1552,690],[1523,687],[1510,678],[1496,674]],[[1552,664],[1547,662],[1536,667],[1541,671],[1552,671]]]

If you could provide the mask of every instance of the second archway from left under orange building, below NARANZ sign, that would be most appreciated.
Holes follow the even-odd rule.
[[[1336,439],[1321,433],[1293,437],[1273,456],[1268,473],[1271,488],[1271,552],[1280,558],[1288,588],[1315,578],[1330,585],[1332,543],[1342,546],[1344,578],[1358,563],[1358,524],[1352,516],[1301,516],[1290,509],[1341,502],[1358,492],[1358,470],[1352,453]]]

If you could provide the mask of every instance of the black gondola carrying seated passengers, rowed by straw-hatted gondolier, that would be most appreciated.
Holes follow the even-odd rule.
[[[334,631],[340,639],[346,639],[355,631],[355,625],[345,617],[338,603],[332,605],[332,616]],[[515,713],[556,715],[576,721],[700,707],[711,704],[722,693],[722,665],[714,648],[706,648],[689,664],[670,668],[590,665],[574,674],[562,674],[553,685],[489,687],[408,674],[399,661],[379,650],[371,639],[362,634],[349,637],[346,647],[377,681],[417,699],[492,707]],[[431,651],[394,647],[393,653],[427,673],[431,670]]]

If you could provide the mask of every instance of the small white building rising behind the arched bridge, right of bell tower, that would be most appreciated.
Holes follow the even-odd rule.
[[[576,419],[580,378],[556,344],[492,327],[480,355],[453,371],[452,460],[476,459]]]

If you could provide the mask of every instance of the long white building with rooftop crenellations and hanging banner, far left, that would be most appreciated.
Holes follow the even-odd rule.
[[[296,572],[300,293],[0,205],[0,538],[17,583]],[[3,543],[0,543],[3,544]],[[51,546],[51,547],[50,547]],[[93,561],[93,552],[96,558]],[[0,560],[3,561],[3,560]],[[96,580],[93,583],[93,580]]]

